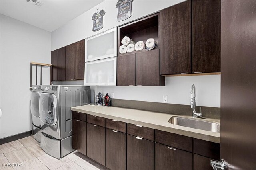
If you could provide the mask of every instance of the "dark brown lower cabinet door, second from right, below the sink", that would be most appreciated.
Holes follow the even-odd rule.
[[[190,152],[155,143],[155,170],[192,170],[192,158]]]

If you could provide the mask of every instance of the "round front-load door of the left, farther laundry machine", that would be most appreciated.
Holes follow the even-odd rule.
[[[30,111],[32,116],[32,123],[35,126],[40,128],[41,123],[40,123],[40,114],[39,114],[39,98],[40,98],[39,92],[31,92]]]

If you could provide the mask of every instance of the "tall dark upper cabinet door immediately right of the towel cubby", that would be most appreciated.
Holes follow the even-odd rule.
[[[160,12],[161,75],[191,73],[191,2]]]

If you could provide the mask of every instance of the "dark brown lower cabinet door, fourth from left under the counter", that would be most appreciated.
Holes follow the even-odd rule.
[[[154,142],[127,135],[127,170],[154,170]]]

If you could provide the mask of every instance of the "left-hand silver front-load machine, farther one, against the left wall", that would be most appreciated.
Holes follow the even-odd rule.
[[[32,86],[30,95],[30,112],[32,117],[32,136],[41,143],[41,122],[39,113],[39,98],[42,86]]]

